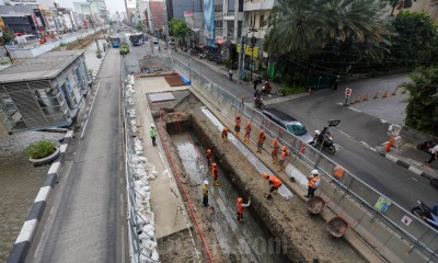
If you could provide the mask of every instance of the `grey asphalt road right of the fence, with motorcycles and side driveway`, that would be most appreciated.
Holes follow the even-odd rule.
[[[187,56],[180,52],[172,52],[172,56],[176,64],[188,64]],[[250,84],[244,83],[237,89],[235,82],[229,81],[227,76],[206,67],[197,59],[191,59],[189,64],[193,71],[201,73],[232,94],[243,95],[246,102],[251,102],[253,88]],[[372,84],[372,89],[378,89],[380,84],[380,89],[390,89],[390,87],[395,87],[396,83],[404,80],[405,76],[397,75],[349,82],[347,85],[365,90],[366,85]],[[335,144],[342,148],[334,156],[331,156],[334,161],[407,210],[415,205],[417,199],[424,201],[426,204],[435,204],[437,192],[429,185],[428,180],[364,147],[364,144],[374,147],[388,141],[387,129],[389,124],[382,122],[380,117],[373,117],[364,112],[351,111],[339,105],[338,103],[344,100],[343,88],[343,85],[339,87],[337,91],[322,90],[313,95],[269,106],[295,116],[311,133],[314,129],[321,129],[326,125],[327,119],[341,119],[339,126],[336,129],[331,129]],[[394,105],[392,103],[387,107],[387,111],[393,111]],[[370,108],[372,108],[372,105]]]

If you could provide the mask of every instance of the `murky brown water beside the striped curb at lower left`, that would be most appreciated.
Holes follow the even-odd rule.
[[[34,168],[22,151],[42,138],[58,140],[64,134],[0,133],[0,262],[5,262],[49,169]]]

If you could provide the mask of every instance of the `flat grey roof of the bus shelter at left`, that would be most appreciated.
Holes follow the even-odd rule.
[[[72,64],[83,50],[51,52],[26,59],[0,71],[0,84],[11,82],[54,79]]]

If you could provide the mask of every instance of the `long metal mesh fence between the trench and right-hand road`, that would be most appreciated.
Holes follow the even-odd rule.
[[[212,82],[205,76],[201,76],[199,72],[191,70],[181,61],[174,60],[174,67],[178,68],[180,71],[183,71],[187,75],[189,73],[193,83],[198,82],[198,85],[209,93],[209,95],[216,96],[215,99],[218,101],[223,101],[230,105],[230,108],[234,108],[235,111],[227,111],[226,113],[222,111],[222,114],[226,115],[231,123],[233,123],[235,112],[239,111],[243,117],[250,119],[254,124],[252,134],[257,134],[260,129],[264,129],[270,136],[277,137],[279,142],[288,146],[291,152],[293,152],[309,165],[314,167],[320,155],[315,148],[289,134],[284,128],[266,118],[262,113],[253,108],[251,105],[244,104],[241,99],[235,98],[233,94],[222,89],[220,85]],[[335,178],[333,173],[335,168],[338,165],[338,163],[322,155],[318,164],[318,169],[328,182],[342,190],[344,195],[347,194],[354,197],[360,205],[366,207],[368,211],[372,214],[371,220],[378,219],[393,230],[393,233],[387,240],[387,242],[383,243],[383,247],[387,245],[391,238],[407,240],[411,242],[408,245],[411,248],[410,251],[415,249],[428,259],[427,262],[438,262],[437,230],[429,227],[422,219],[415,217],[408,210],[404,209],[399,204],[391,201],[391,198],[374,190],[353,173],[345,170],[341,179]],[[381,198],[390,202],[390,205],[388,205],[385,209],[382,209],[383,207],[378,204]],[[343,197],[337,201],[332,201],[338,202],[336,207],[342,208],[341,203]],[[362,216],[362,218],[364,217],[365,216]],[[408,218],[408,222],[405,220],[406,217]],[[361,218],[356,218],[358,221],[360,221],[360,219]]]

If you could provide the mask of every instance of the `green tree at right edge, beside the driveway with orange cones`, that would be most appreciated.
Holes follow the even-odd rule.
[[[405,125],[438,136],[438,66],[419,68],[403,88],[410,92]]]

